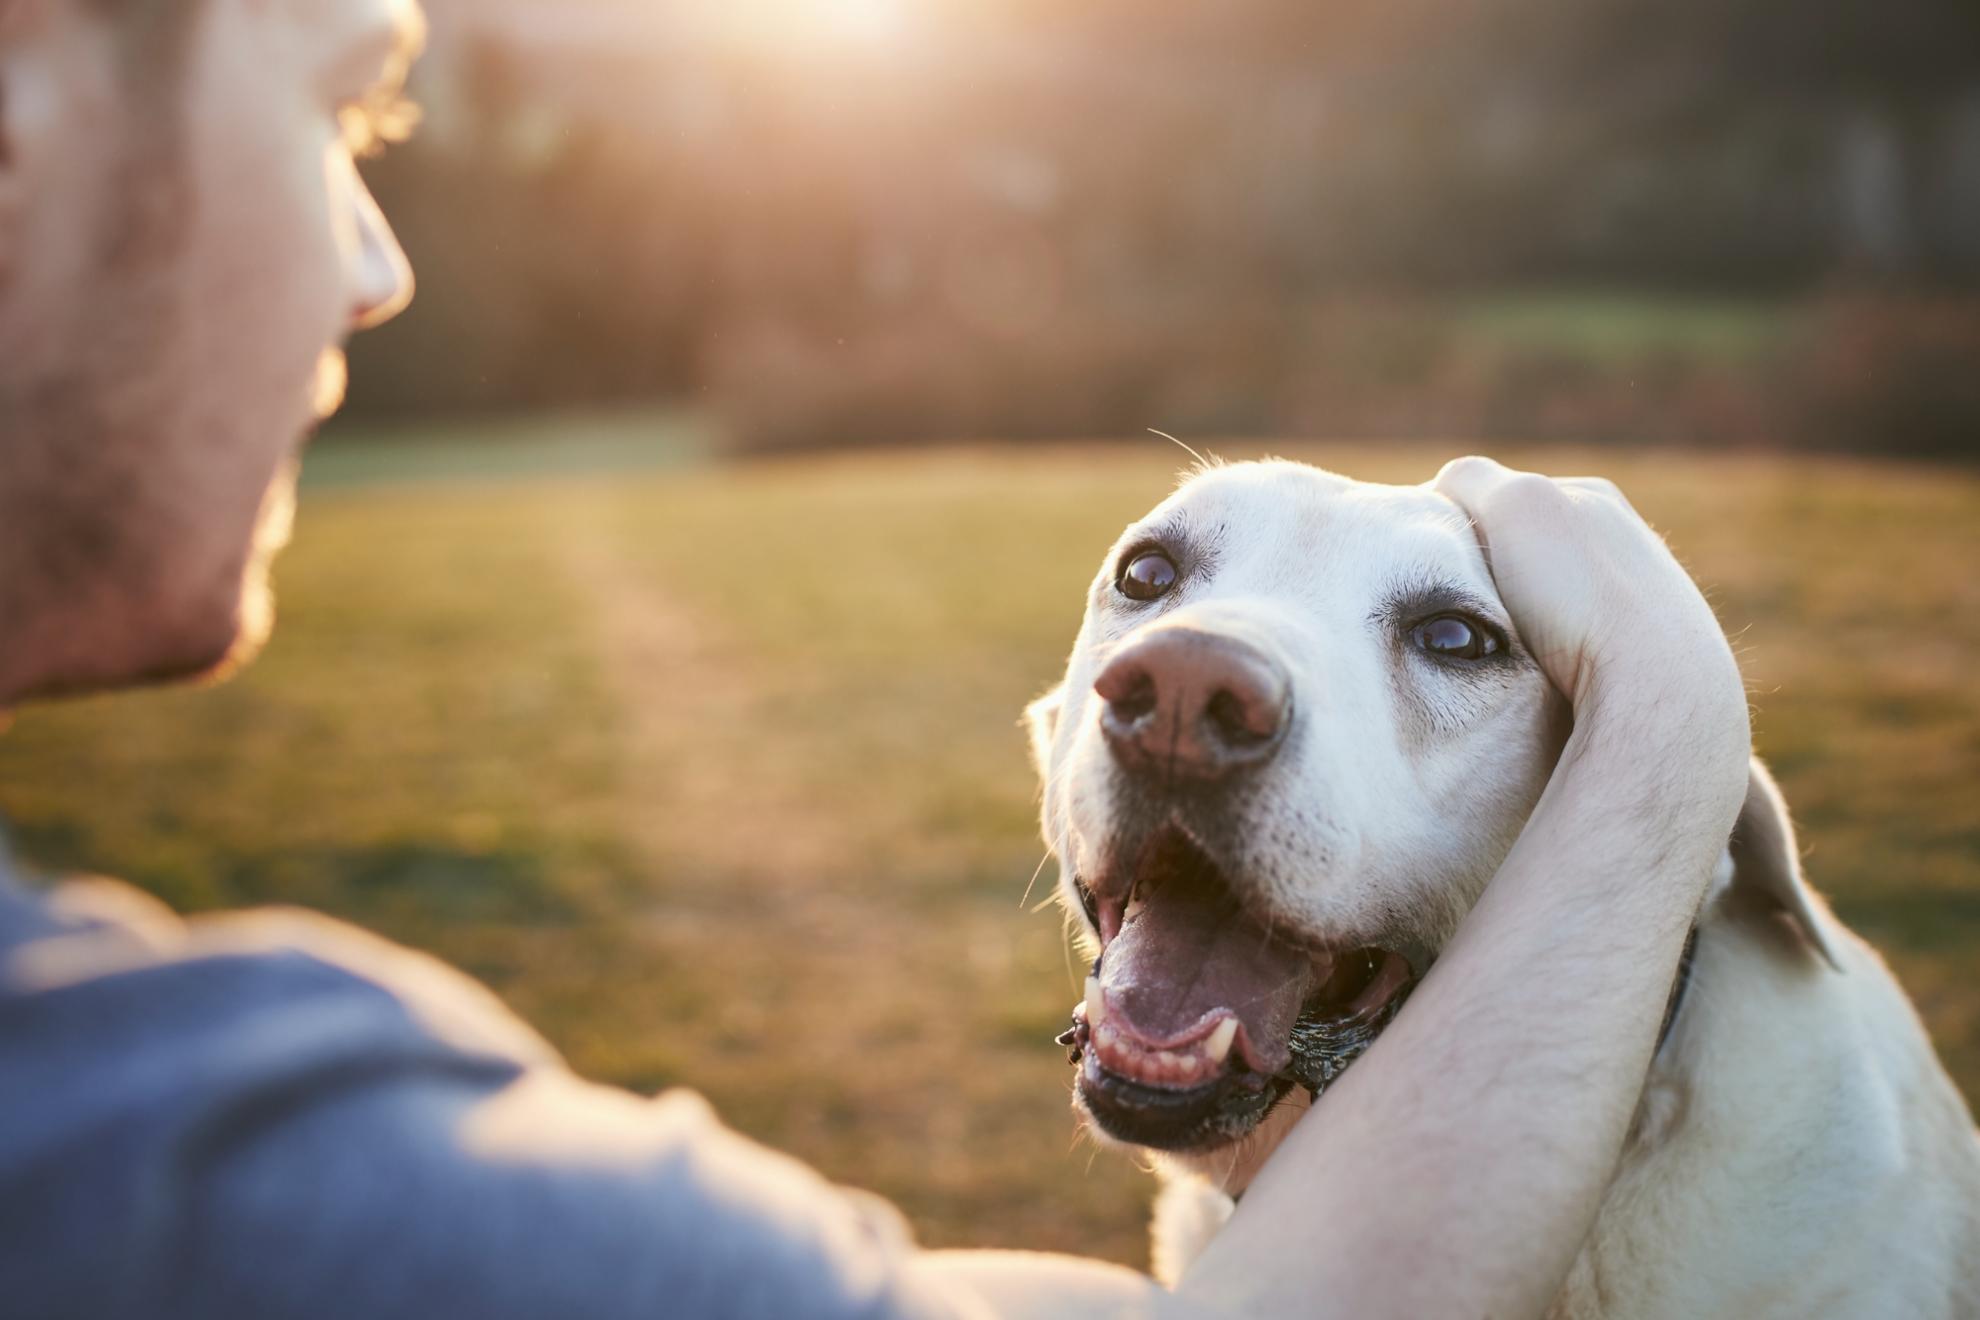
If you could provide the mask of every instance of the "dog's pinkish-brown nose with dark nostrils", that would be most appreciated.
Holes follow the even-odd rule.
[[[1093,691],[1115,760],[1135,772],[1218,780],[1269,760],[1293,687],[1257,647],[1162,627],[1115,655]]]

